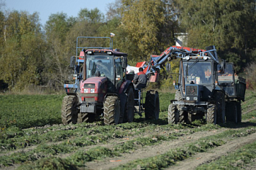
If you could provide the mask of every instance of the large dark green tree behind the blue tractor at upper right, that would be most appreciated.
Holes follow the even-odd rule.
[[[221,58],[236,66],[246,62],[246,50],[255,42],[255,0],[174,1],[179,22],[189,34],[189,47],[215,45]]]

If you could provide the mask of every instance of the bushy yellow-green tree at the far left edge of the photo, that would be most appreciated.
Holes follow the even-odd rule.
[[[4,16],[1,30],[0,80],[10,89],[22,90],[28,85],[39,84],[45,42],[42,39],[37,12],[13,11]]]

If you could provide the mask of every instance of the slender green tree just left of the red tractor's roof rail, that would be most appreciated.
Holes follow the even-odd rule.
[[[70,74],[69,50],[72,44],[67,45],[67,35],[76,23],[75,18],[67,18],[67,14],[61,12],[50,15],[45,24],[48,57],[44,61],[46,72],[43,81],[52,88],[62,88]]]

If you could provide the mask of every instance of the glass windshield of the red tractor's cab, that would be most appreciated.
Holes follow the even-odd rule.
[[[114,80],[113,57],[110,55],[87,55],[86,78],[108,77]]]

